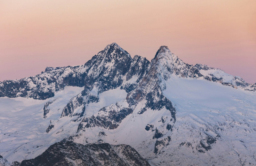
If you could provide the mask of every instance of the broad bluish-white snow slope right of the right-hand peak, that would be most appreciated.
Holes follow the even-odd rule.
[[[160,155],[163,160],[169,156],[174,165],[256,164],[255,92],[172,75],[164,95],[175,103],[177,113],[172,143],[163,149],[168,154]],[[216,142],[207,144],[208,136]],[[200,141],[212,149],[202,148]]]

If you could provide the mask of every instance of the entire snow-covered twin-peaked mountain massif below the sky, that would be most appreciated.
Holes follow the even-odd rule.
[[[0,82],[0,165],[35,165],[65,141],[74,151],[60,154],[71,165],[109,156],[102,145],[121,156],[113,165],[140,165],[137,153],[150,165],[256,165],[255,91],[223,70],[184,63],[166,46],[149,62],[112,43],[84,65]],[[81,148],[88,154],[74,157]]]

